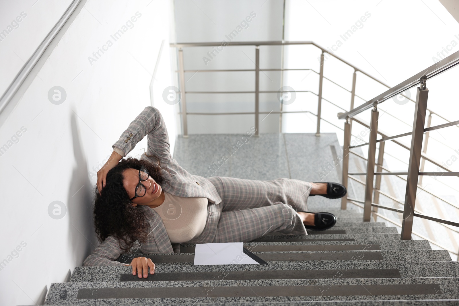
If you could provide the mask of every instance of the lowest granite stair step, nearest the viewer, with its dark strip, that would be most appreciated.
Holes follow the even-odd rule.
[[[117,302],[135,302],[154,305],[228,301],[458,298],[459,278],[329,278],[53,283],[45,303],[113,305]]]

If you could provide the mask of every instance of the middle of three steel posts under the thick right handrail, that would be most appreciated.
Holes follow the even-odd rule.
[[[373,200],[373,183],[375,178],[375,156],[376,156],[376,135],[378,134],[378,117],[379,111],[376,104],[373,105],[370,121],[370,137],[368,145],[367,159],[367,179],[365,182],[365,203],[364,203],[364,221],[370,221],[371,201]]]

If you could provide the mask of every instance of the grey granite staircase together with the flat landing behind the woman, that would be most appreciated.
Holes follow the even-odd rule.
[[[323,177],[321,169],[329,167],[341,147],[336,134],[322,136],[260,134],[213,175],[340,182],[340,167]],[[174,159],[190,173],[206,176],[209,163],[218,161],[225,146],[238,139],[239,135],[225,134],[179,137]],[[363,198],[361,187],[351,184],[349,195]],[[50,286],[45,304],[459,305],[459,263],[448,251],[432,250],[426,240],[400,240],[396,228],[363,222],[358,207],[349,204],[340,210],[340,203],[317,196],[308,199],[309,211],[336,215],[336,226],[327,231],[307,236],[268,233],[245,243],[268,264],[195,266],[194,245],[181,244],[179,253],[143,255],[156,265],[155,274],[146,279],[133,276],[130,267],[75,267],[69,282]]]

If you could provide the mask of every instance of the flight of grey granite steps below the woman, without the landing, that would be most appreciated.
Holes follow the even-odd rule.
[[[193,265],[195,245],[148,254],[155,274],[130,267],[76,267],[50,286],[46,305],[459,305],[459,262],[396,228],[331,211],[334,228],[309,235],[268,233],[244,243],[268,264]],[[121,256],[118,261],[132,258]]]

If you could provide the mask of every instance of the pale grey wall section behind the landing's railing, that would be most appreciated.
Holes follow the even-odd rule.
[[[177,42],[280,41],[283,0],[175,0]],[[251,16],[252,13],[252,16]],[[241,22],[249,17],[249,22]],[[239,28],[238,28],[239,27]],[[229,37],[233,30],[235,37]],[[222,49],[222,48],[220,48]],[[210,69],[255,69],[255,46],[185,47],[186,91],[254,91],[255,72],[202,72]],[[280,46],[260,47],[260,69],[280,68]],[[207,57],[211,61],[205,61]],[[197,71],[197,72],[196,72]],[[196,74],[195,74],[196,72]],[[277,91],[280,72],[260,72],[260,90]],[[255,94],[187,94],[189,112],[255,111]],[[260,94],[260,111],[279,111],[276,94]],[[260,114],[260,133],[278,132],[278,114]],[[262,121],[263,120],[263,121]],[[189,134],[245,133],[254,115],[188,115]]]

